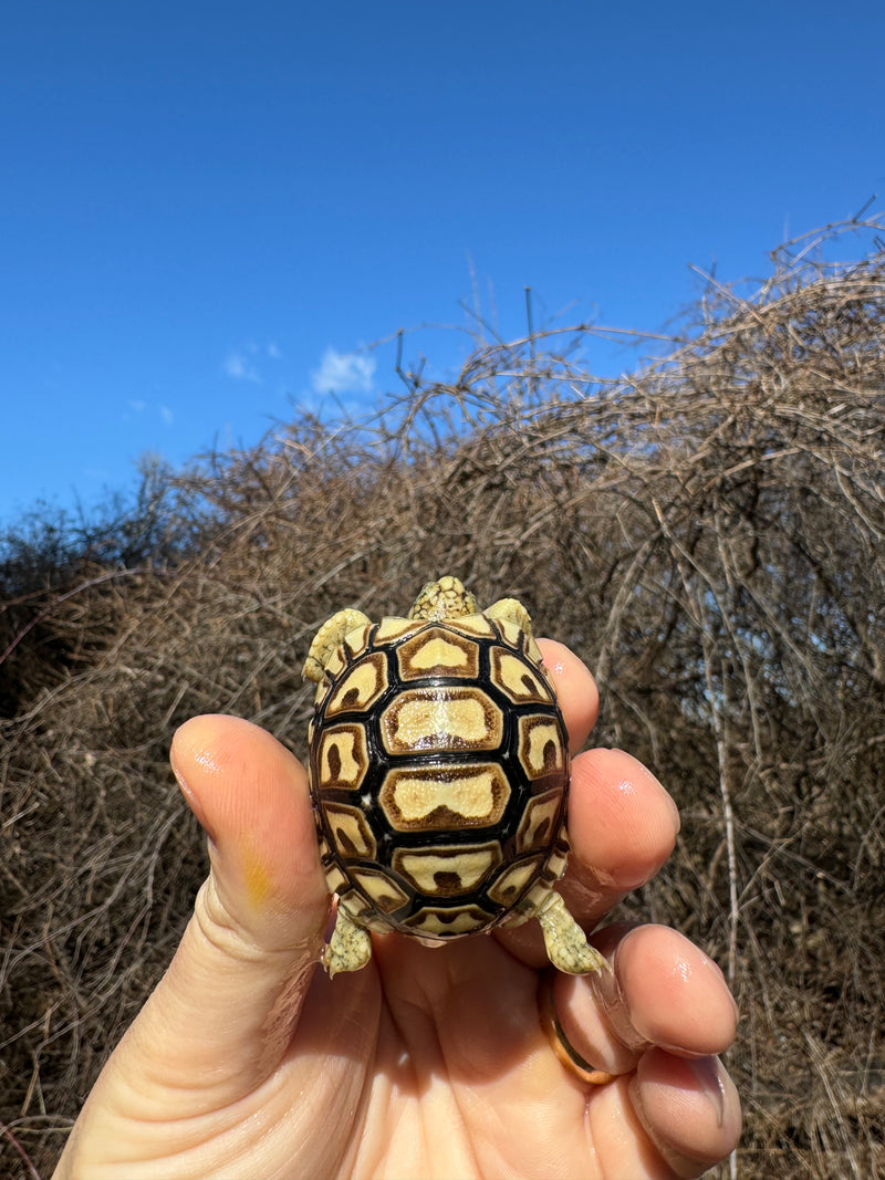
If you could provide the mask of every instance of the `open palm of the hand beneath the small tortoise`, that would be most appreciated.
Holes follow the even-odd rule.
[[[157,1172],[138,1174],[668,1174],[634,1110],[630,1075],[588,1101],[540,1029],[537,989],[538,972],[493,938],[442,952],[380,940],[376,964],[360,975],[315,976],[260,1086],[228,1076],[211,1099],[211,1138],[206,1095],[186,1119],[172,1094],[176,1106],[150,1132],[152,1153],[175,1149],[155,1156]],[[276,1030],[288,1032],[284,1023]]]

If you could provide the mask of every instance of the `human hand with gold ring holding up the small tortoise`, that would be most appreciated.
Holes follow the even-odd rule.
[[[573,749],[598,697],[540,641]],[[169,971],[90,1094],[55,1180],[142,1176],[696,1176],[734,1147],[714,1056],[736,1011],[719,969],[662,926],[594,936],[599,976],[553,976],[538,923],[428,949],[373,936],[362,971],[317,961],[329,917],[301,765],[269,734],[196,717],[172,743],[211,871]],[[563,893],[591,930],[678,831],[620,750],[572,762]],[[599,1076],[553,1051],[539,1005]],[[550,1015],[548,1010],[546,1015]]]

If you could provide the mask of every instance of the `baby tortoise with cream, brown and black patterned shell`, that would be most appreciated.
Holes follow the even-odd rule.
[[[480,611],[444,577],[407,618],[339,611],[304,676],[319,684],[310,795],[339,899],[330,976],[368,963],[369,930],[440,945],[531,917],[560,971],[604,968],[553,889],[569,850],[568,734],[519,602]]]

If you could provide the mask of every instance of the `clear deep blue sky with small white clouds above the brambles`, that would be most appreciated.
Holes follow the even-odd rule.
[[[881,0],[7,0],[0,524],[369,411],[461,303],[656,330],[689,263],[766,275],[885,205],[884,52]]]

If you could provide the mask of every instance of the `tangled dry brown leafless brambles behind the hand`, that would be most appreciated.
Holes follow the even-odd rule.
[[[301,417],[145,472],[100,525],[0,551],[0,1171],[48,1175],[205,872],[175,727],[303,754],[334,609],[452,572],[595,669],[594,741],[647,760],[678,848],[624,911],[677,926],[742,1011],[732,1174],[885,1173],[885,250],[781,248],[709,282],[670,354],[599,381],[592,328],[402,374],[369,427]],[[4,657],[5,653],[5,657]],[[729,1174],[726,1165],[720,1173]]]

